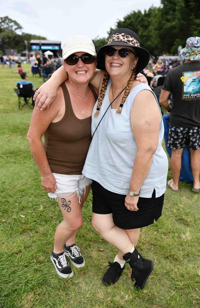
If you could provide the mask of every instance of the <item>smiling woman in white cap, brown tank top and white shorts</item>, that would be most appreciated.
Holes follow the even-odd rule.
[[[68,278],[73,270],[66,256],[75,267],[85,265],[75,236],[82,225],[82,206],[91,184],[82,175],[82,168],[91,142],[91,113],[97,99],[89,84],[96,69],[92,40],[85,35],[69,37],[62,58],[69,78],[58,88],[50,108],[44,112],[34,108],[27,138],[42,175],[42,187],[58,201],[63,215],[55,232],[51,261],[58,275]]]

